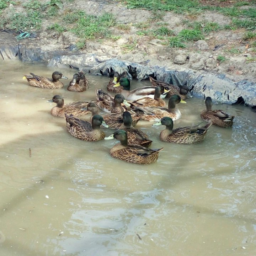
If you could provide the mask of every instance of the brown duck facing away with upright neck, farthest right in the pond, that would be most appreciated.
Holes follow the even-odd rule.
[[[200,117],[204,121],[213,123],[215,126],[219,127],[231,127],[233,126],[233,119],[235,116],[229,116],[222,110],[212,110],[212,98],[206,97],[205,100],[206,110],[200,113]]]

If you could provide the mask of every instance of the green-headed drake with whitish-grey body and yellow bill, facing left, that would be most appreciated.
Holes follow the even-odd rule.
[[[113,85],[113,87],[118,86],[123,86],[122,95],[124,95],[126,100],[133,101],[143,97],[154,98],[154,86],[139,87],[130,91],[130,80],[128,78],[121,78],[117,84]],[[164,98],[165,96],[166,95],[162,95],[161,97]]]

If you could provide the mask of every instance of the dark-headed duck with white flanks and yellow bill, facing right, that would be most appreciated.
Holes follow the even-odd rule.
[[[158,122],[162,117],[171,117],[173,120],[181,118],[181,112],[176,108],[178,103],[186,103],[181,100],[180,96],[172,95],[168,102],[168,109],[163,107],[132,107],[132,109],[138,113],[142,114],[142,120]]]

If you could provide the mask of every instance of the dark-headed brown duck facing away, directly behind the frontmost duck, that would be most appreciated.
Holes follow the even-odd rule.
[[[148,135],[142,132],[142,130],[135,129],[132,126],[132,116],[128,111],[123,112],[123,124],[119,130],[127,132],[127,138],[129,144],[138,144],[146,148],[151,146],[152,140],[148,139]]]

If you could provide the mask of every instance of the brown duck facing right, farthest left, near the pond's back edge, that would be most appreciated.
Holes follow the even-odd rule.
[[[53,72],[52,78],[38,76],[33,73],[30,73],[30,75],[23,74],[23,79],[27,79],[29,85],[48,89],[62,88],[63,83],[59,81],[60,78],[68,79],[59,71]]]

